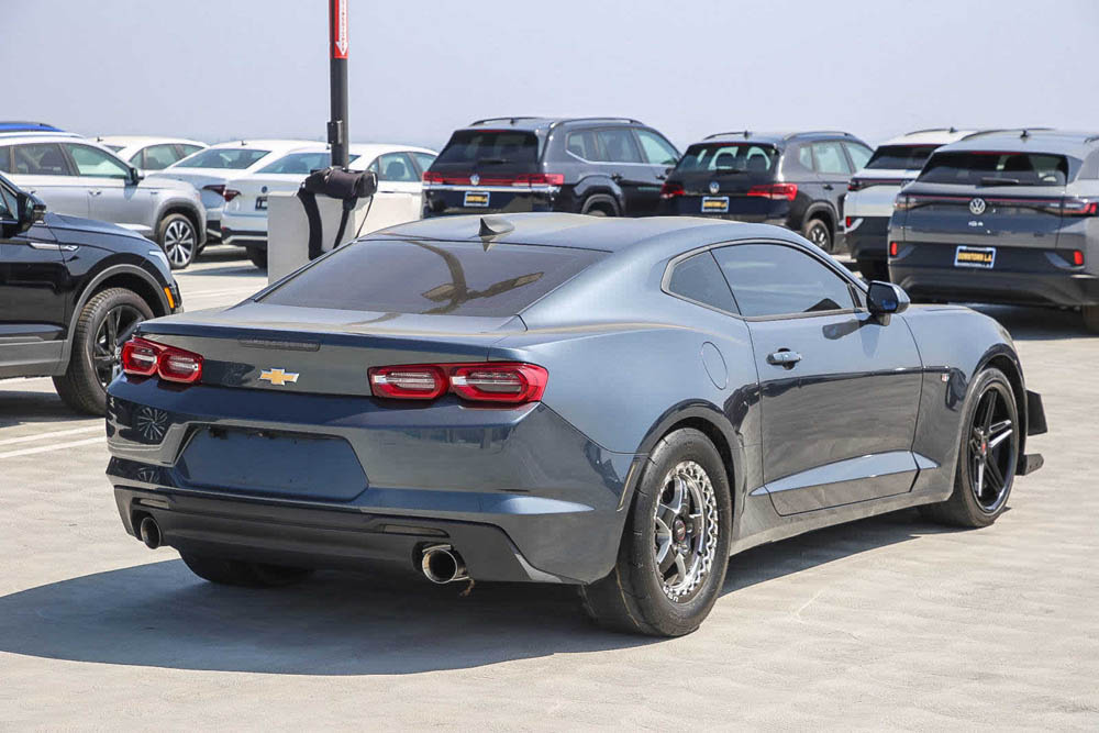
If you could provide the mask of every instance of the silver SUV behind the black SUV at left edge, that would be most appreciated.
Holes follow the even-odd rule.
[[[59,214],[98,219],[156,241],[173,269],[206,238],[206,209],[190,184],[143,179],[111,151],[68,134],[0,134],[0,171]]]

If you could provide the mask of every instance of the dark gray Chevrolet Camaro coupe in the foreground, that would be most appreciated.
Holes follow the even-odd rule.
[[[776,226],[404,224],[143,323],[108,474],[126,530],[217,582],[393,560],[684,634],[733,553],[912,506],[984,526],[1041,465],[1003,329],[907,306]]]

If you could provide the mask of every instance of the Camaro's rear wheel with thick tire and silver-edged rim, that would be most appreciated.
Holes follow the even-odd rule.
[[[721,455],[693,429],[665,435],[634,491],[610,574],[580,588],[614,631],[681,636],[710,613],[725,579],[732,501]]]

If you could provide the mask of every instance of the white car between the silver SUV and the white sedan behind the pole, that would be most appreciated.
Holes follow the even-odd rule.
[[[292,149],[319,145],[308,140],[238,140],[211,145],[149,178],[170,178],[198,189],[206,207],[207,235],[211,243],[221,241],[221,212],[225,208],[225,181],[253,173]]]

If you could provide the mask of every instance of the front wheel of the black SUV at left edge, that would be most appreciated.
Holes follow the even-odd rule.
[[[122,344],[151,318],[148,304],[132,290],[109,288],[92,296],[73,331],[68,367],[54,377],[62,401],[78,412],[103,414],[107,385],[121,369]]]

